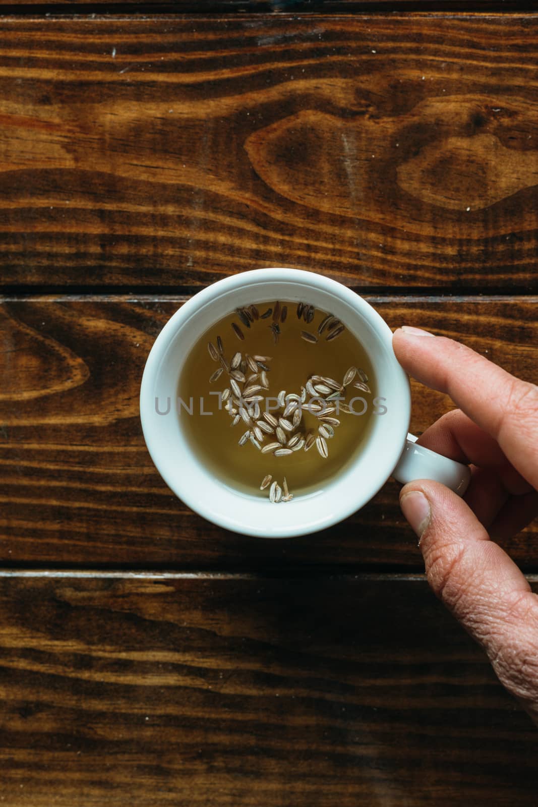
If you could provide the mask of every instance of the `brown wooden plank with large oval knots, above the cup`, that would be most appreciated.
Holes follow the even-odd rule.
[[[536,288],[532,15],[2,19],[0,274]]]

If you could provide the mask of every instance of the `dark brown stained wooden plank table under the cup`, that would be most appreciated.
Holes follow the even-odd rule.
[[[163,324],[261,266],[538,382],[536,17],[407,6],[2,6],[0,804],[538,803],[396,483],[254,540],[140,431]],[[536,524],[506,548],[538,591]]]

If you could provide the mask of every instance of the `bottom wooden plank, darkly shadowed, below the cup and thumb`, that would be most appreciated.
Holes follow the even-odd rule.
[[[536,804],[536,730],[419,579],[4,573],[0,626],[10,807]]]

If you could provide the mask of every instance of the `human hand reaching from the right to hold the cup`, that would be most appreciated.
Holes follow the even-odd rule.
[[[431,337],[398,328],[393,338],[403,369],[460,407],[419,443],[471,463],[472,477],[463,499],[440,483],[408,483],[402,512],[419,536],[432,589],[538,725],[538,596],[494,543],[538,514],[538,387],[465,345]]]

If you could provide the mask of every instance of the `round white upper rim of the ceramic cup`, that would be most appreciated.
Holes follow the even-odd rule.
[[[362,497],[353,498],[351,501],[341,502],[337,512],[335,509],[329,510],[326,516],[320,517],[315,524],[309,525],[291,525],[286,529],[280,529],[277,534],[269,534],[263,527],[258,525],[242,524],[238,525],[231,516],[225,516],[223,513],[215,515],[211,507],[206,501],[194,500],[194,495],[189,488],[189,480],[181,479],[179,475],[170,475],[162,462],[162,448],[158,445],[155,435],[155,425],[152,420],[152,399],[153,391],[155,388],[156,378],[161,366],[161,361],[165,353],[173,341],[173,337],[177,334],[179,328],[190,320],[196,311],[205,307],[207,303],[212,303],[219,298],[223,293],[236,291],[242,286],[251,286],[252,283],[260,284],[266,282],[300,282],[302,285],[310,285],[317,291],[326,292],[329,295],[336,296],[348,303],[348,306],[360,312],[361,316],[369,323],[375,330],[377,337],[384,343],[384,347],[389,350],[392,357],[394,357],[394,378],[396,383],[399,384],[398,389],[398,411],[395,417],[398,419],[398,424],[393,428],[393,431],[399,435],[398,439],[394,439],[394,445],[390,445],[386,451],[386,455],[382,458],[384,462],[383,472],[373,475],[369,479],[369,488],[365,491]],[[270,296],[270,295],[269,295]],[[394,379],[393,379],[394,380]],[[356,292],[348,289],[342,283],[326,278],[322,274],[317,274],[312,271],[288,269],[286,267],[271,267],[257,270],[249,270],[241,274],[231,275],[223,278],[210,286],[198,291],[190,299],[183,303],[181,308],[177,310],[170,317],[161,332],[158,333],[154,341],[148,358],[144,366],[144,373],[140,384],[140,420],[142,424],[142,431],[144,440],[148,447],[152,461],[156,469],[165,480],[165,483],[173,491],[178,498],[180,498],[188,507],[192,508],[199,515],[211,521],[215,525],[230,529],[236,533],[252,535],[256,537],[298,537],[311,533],[318,532],[321,529],[326,529],[340,521],[343,521],[348,516],[352,515],[358,509],[363,507],[376,493],[381,489],[386,479],[389,478],[394,466],[396,466],[402,450],[405,445],[407,437],[407,429],[409,426],[409,419],[411,415],[411,393],[409,389],[409,382],[407,375],[398,364],[392,350],[392,332],[383,320],[382,316],[363,299]],[[300,500],[298,500],[300,501]]]

